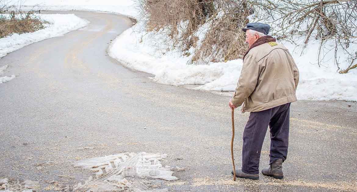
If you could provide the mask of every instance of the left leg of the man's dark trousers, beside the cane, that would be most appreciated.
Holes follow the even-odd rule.
[[[259,160],[271,109],[251,112],[243,132],[242,171],[259,173]]]

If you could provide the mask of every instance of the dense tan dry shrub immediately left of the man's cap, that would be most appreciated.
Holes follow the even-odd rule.
[[[202,45],[195,51],[192,62],[227,62],[242,58],[247,50],[245,33],[247,16],[253,14],[245,1],[225,1],[220,18],[212,21]]]

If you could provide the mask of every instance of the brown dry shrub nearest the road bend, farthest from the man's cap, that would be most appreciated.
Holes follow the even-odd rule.
[[[140,7],[147,29],[166,28],[173,46],[181,51],[196,45],[198,38],[193,34],[215,12],[213,0],[141,0]]]

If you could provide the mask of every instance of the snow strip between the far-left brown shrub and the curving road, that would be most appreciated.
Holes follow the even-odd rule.
[[[45,40],[47,38],[62,36],[72,30],[76,30],[86,26],[89,21],[81,19],[74,14],[35,14],[37,18],[47,21],[50,24],[45,24],[44,29],[23,34],[13,34],[4,38],[0,38],[0,58],[7,53],[18,50],[31,43]]]

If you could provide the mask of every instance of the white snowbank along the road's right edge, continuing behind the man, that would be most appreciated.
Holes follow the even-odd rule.
[[[160,35],[160,31],[156,35],[154,32],[145,31],[144,25],[139,22],[117,37],[110,48],[110,56],[129,68],[154,74],[154,80],[159,83],[203,84],[195,88],[199,90],[235,90],[242,69],[241,59],[209,65],[187,65],[192,55],[180,57],[178,51],[167,51],[166,37]],[[338,74],[331,58],[332,53],[325,57],[325,62],[319,68],[319,42],[311,42],[303,50],[302,56],[301,47],[282,43],[289,48],[300,70],[298,99],[357,100],[357,70],[352,69],[348,74]],[[352,46],[350,48],[357,49]]]

